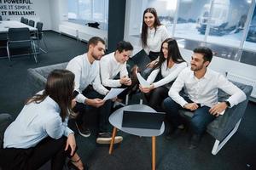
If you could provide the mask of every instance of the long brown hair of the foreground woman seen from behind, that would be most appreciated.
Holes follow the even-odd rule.
[[[26,105],[35,102],[40,103],[49,96],[61,108],[61,120],[65,121],[68,112],[71,111],[73,99],[74,74],[67,70],[54,70],[49,73],[43,94],[36,94],[26,101]]]

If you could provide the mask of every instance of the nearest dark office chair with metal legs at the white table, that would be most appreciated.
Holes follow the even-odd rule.
[[[7,42],[7,54],[10,59],[10,50],[29,50],[30,54],[34,55],[36,63],[38,63],[35,43],[30,38],[30,31],[28,28],[9,28],[8,42]],[[24,54],[20,54],[24,55]]]

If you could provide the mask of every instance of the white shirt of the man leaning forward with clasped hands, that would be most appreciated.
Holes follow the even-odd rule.
[[[120,77],[128,76],[126,62],[124,64],[119,63],[114,57],[114,52],[102,57],[100,61],[100,72],[102,84],[110,88],[117,88],[122,85],[119,80],[113,80],[118,73]]]

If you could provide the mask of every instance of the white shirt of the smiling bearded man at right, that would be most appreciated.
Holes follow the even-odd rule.
[[[216,71],[207,68],[207,72],[201,79],[194,75],[190,67],[185,68],[177,77],[176,81],[170,88],[169,96],[182,107],[188,102],[185,101],[179,92],[184,88],[189,99],[201,105],[212,107],[218,103],[218,88],[225,93],[230,94],[227,99],[230,107],[239,104],[247,98],[240,88],[237,88],[232,82]]]

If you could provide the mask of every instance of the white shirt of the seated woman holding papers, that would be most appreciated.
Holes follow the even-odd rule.
[[[147,82],[151,84],[154,82],[154,88],[158,88],[160,86],[166,85],[169,82],[175,80],[177,75],[183,71],[183,69],[187,66],[186,62],[175,63],[171,68],[167,67],[167,60],[161,65],[161,76],[163,77],[160,81],[154,82],[155,77],[159,74],[160,68],[154,69],[151,74],[148,76]]]

